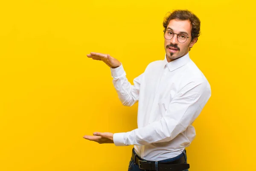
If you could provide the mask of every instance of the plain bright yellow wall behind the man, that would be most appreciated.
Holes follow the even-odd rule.
[[[201,19],[190,57],[212,97],[194,122],[190,171],[245,171],[255,160],[255,3],[244,0],[2,0],[0,171],[126,171],[132,146],[99,145],[94,131],[136,128],[110,70],[86,57],[109,53],[130,81],[162,60],[163,17],[189,9]]]

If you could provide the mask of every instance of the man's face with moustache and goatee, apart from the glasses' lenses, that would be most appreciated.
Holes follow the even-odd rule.
[[[170,20],[168,26],[166,27],[166,32],[171,31],[175,34],[171,40],[164,39],[164,47],[168,62],[174,61],[175,59],[186,55],[189,52],[190,47],[195,44],[197,38],[194,38],[193,41],[191,41],[191,30],[192,25],[189,20]],[[180,33],[189,37],[186,42],[178,42],[177,34]]]

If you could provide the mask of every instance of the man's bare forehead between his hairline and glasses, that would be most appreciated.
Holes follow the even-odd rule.
[[[174,32],[187,32],[189,35],[191,34],[192,25],[189,20],[170,20],[167,29],[171,28]]]

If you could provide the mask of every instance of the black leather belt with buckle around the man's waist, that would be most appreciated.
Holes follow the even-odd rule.
[[[139,165],[140,169],[156,171],[156,166],[154,161],[147,161],[145,159],[142,159],[137,154],[134,154],[134,152],[132,152],[131,158],[134,160],[134,162],[137,165]],[[186,162],[186,159],[184,155],[172,162],[160,162],[157,164],[158,171],[183,171],[189,168],[189,164],[185,162]]]

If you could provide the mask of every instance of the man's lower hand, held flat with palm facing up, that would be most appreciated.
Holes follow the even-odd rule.
[[[83,138],[88,139],[90,141],[98,142],[99,144],[114,143],[113,135],[114,135],[113,133],[109,133],[109,132],[105,132],[105,133],[95,132],[93,133],[93,136],[85,135],[83,136]]]

